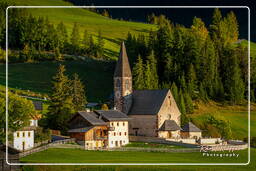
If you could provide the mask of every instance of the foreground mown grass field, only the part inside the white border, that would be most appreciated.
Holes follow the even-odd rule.
[[[247,163],[247,150],[234,153],[239,154],[239,156],[221,158],[206,157],[201,152],[87,151],[70,148],[50,148],[21,158],[21,161],[31,163]]]

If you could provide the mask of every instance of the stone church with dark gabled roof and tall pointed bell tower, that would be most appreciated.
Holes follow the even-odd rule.
[[[127,114],[129,135],[180,138],[180,111],[169,89],[134,90],[124,42],[114,72],[114,107]]]

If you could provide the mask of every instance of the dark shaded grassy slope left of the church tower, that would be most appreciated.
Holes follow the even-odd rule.
[[[78,73],[83,81],[88,100],[104,101],[113,91],[114,63],[97,60],[66,61],[66,74]],[[9,64],[9,87],[50,93],[51,79],[57,71],[58,62]],[[0,84],[5,85],[5,65],[0,64]]]

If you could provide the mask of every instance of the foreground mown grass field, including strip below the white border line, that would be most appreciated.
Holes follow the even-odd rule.
[[[30,171],[159,171],[159,170],[254,170],[256,168],[256,149],[251,149],[249,165],[234,166],[234,163],[246,163],[247,150],[236,151],[239,157],[206,157],[200,152],[194,153],[157,153],[157,152],[101,152],[78,149],[49,149],[21,158],[21,162],[102,162],[102,163],[230,163],[228,166],[23,166]]]

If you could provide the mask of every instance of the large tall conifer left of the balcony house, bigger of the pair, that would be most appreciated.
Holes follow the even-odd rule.
[[[51,129],[61,130],[65,134],[68,129],[68,120],[74,113],[74,108],[69,93],[70,82],[64,72],[64,65],[60,65],[57,74],[53,77],[53,90],[47,121]]]

